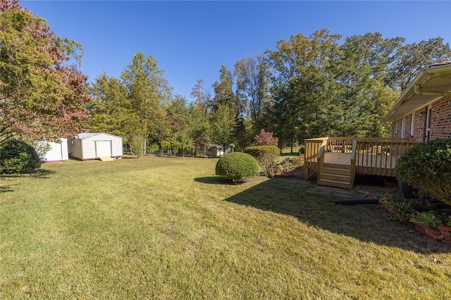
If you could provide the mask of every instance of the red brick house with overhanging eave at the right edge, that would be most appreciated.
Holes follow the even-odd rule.
[[[391,137],[411,142],[451,137],[451,61],[422,69],[385,117]]]

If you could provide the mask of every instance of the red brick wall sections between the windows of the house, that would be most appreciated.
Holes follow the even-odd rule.
[[[414,114],[414,135],[411,135],[412,114],[406,115],[405,137],[412,142],[426,141],[428,108],[420,108]],[[431,105],[431,132],[429,139],[451,137],[451,98],[445,97]],[[397,127],[397,130],[396,130]],[[401,137],[402,118],[392,123],[391,137]]]

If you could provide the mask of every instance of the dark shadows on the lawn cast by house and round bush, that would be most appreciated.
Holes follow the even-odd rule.
[[[220,184],[214,177],[209,178],[197,181]],[[292,215],[301,222],[363,242],[395,246],[419,254],[451,252],[449,245],[421,237],[408,225],[388,220],[378,204],[335,204],[335,200],[352,199],[351,193],[304,180],[276,178],[261,182],[226,201]]]

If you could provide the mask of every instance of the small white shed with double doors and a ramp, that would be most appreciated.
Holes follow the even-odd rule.
[[[73,158],[97,159],[122,157],[122,137],[103,132],[85,132],[68,139],[69,155]]]

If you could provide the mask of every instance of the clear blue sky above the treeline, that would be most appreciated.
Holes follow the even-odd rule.
[[[187,100],[197,79],[211,92],[219,69],[276,49],[280,39],[328,28],[343,37],[381,32],[408,43],[451,42],[451,1],[21,1],[59,37],[80,42],[89,81],[120,77],[138,51]]]

